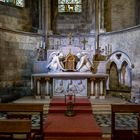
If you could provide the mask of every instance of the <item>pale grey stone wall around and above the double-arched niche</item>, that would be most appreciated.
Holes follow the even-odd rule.
[[[105,46],[110,44],[112,52],[117,50],[126,53],[134,64],[132,69],[132,91],[139,92],[140,88],[140,26],[112,32],[100,34],[100,47],[105,49]]]

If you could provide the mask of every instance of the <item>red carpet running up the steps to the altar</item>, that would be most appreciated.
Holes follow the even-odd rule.
[[[76,98],[76,115],[67,117],[64,98],[54,98],[44,122],[45,140],[101,140],[102,132],[92,115],[87,98]]]

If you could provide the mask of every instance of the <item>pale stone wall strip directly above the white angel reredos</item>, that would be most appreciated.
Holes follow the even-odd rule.
[[[86,41],[85,45],[83,41]],[[67,35],[50,35],[48,36],[48,49],[61,49],[69,46],[70,39]],[[83,50],[92,50],[95,53],[95,36],[94,35],[74,35],[71,39],[73,47],[79,47]]]

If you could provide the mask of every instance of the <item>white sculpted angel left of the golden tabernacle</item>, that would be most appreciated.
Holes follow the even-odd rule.
[[[60,72],[64,69],[64,64],[62,62],[63,59],[63,53],[62,52],[52,52],[49,56],[48,59],[48,65],[47,65],[47,69],[50,72]]]

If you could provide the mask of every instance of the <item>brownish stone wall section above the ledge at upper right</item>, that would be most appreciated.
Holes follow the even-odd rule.
[[[135,0],[111,1],[111,23],[113,31],[136,25],[136,5]]]

